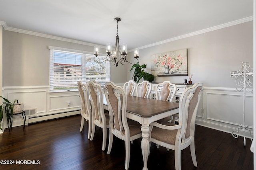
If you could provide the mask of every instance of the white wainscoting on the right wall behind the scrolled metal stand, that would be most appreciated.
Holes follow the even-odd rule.
[[[253,131],[253,94],[247,92],[245,101],[245,125]],[[243,92],[236,88],[204,87],[201,102],[196,124],[228,133],[243,124]],[[242,136],[242,131],[238,135]],[[252,138],[249,131],[245,136]]]

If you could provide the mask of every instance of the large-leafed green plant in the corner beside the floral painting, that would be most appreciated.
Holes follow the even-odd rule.
[[[144,80],[148,80],[149,82],[153,82],[154,81],[154,75],[153,74],[149,74],[147,73],[144,68],[146,68],[146,64],[142,64],[140,65],[140,63],[136,63],[132,65],[132,68],[130,70],[130,72],[132,73],[132,70],[135,68],[134,70],[134,74],[132,76],[132,79],[135,82],[139,82],[141,78],[143,78]]]

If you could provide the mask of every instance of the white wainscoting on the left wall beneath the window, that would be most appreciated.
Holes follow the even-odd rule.
[[[25,125],[81,113],[78,90],[50,92],[49,86],[12,86],[3,87],[2,96],[11,102],[18,99],[19,103],[24,103],[25,110],[36,110],[35,114],[26,117]],[[70,106],[68,106],[68,102],[70,102]],[[13,127],[23,125],[23,123],[22,117],[13,117]],[[5,115],[2,125],[3,128],[7,128]]]

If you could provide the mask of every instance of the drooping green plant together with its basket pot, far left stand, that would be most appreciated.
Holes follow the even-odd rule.
[[[3,98],[2,96],[0,97]],[[6,98],[3,98],[3,99],[4,99],[4,102],[0,106],[0,123],[2,122],[2,119],[4,117],[4,112],[5,112],[8,129],[10,130],[10,127],[12,127],[13,113],[18,113],[23,111],[24,104],[19,104],[18,100],[14,100],[14,102],[12,103]],[[0,125],[0,129],[2,130],[1,125]]]

